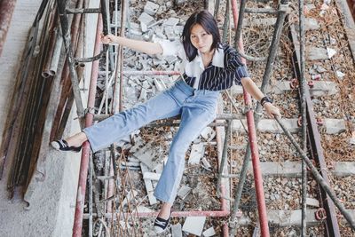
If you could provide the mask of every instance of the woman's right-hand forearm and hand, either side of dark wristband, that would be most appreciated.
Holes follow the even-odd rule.
[[[247,91],[254,99],[257,99],[257,101],[260,101],[264,98],[264,93],[260,91],[260,89],[256,86],[256,83],[254,83],[249,77],[241,78],[241,84],[243,85],[245,91]],[[279,108],[275,107],[270,102],[265,102],[264,108],[266,110],[267,115],[272,118],[275,115],[278,117],[281,116]]]

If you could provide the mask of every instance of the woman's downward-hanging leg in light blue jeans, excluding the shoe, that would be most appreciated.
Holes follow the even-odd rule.
[[[215,116],[214,108],[206,110],[201,107],[183,107],[180,127],[171,143],[168,161],[154,191],[154,196],[164,201],[158,217],[170,216],[170,208],[184,173],[185,152]]]

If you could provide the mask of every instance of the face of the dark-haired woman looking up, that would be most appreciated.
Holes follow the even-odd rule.
[[[190,40],[193,43],[193,47],[201,51],[201,53],[206,53],[210,51],[213,36],[208,34],[200,24],[196,24],[191,29]]]

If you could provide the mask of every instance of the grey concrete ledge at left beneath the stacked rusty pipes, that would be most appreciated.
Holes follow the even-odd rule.
[[[41,2],[42,0],[18,0],[13,13],[0,58],[1,134],[4,132],[4,122],[9,109],[8,100],[11,98],[15,76],[20,68],[19,61],[27,41],[28,29]],[[90,2],[91,7],[99,7],[99,0]],[[92,55],[96,24],[97,14],[88,15],[88,56]],[[85,76],[85,88],[89,88],[91,63],[86,64]],[[83,94],[83,101],[87,101],[87,92]],[[75,111],[74,107],[67,124],[67,135],[80,130],[77,120],[74,120]],[[29,209],[20,194],[11,201],[7,198],[6,183],[11,162],[6,162],[4,177],[0,180],[0,236],[71,236],[80,154],[63,154],[50,149],[45,161],[46,178],[37,183]]]

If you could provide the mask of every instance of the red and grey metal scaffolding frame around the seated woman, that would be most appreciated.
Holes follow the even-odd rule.
[[[219,2],[219,1],[218,1]],[[283,27],[284,20],[287,15],[287,10],[288,10],[288,0],[281,0],[279,4],[279,9],[278,10],[268,10],[268,11],[263,11],[260,9],[247,9],[245,8],[246,5],[246,0],[241,0],[241,9],[240,9],[240,14],[238,16],[237,13],[237,4],[236,1],[232,1],[232,12],[233,12],[233,20],[234,20],[234,25],[237,26],[236,28],[236,43],[238,43],[238,47],[236,47],[241,54],[241,57],[245,61],[245,59],[252,59],[252,60],[265,60],[267,59],[266,63],[266,68],[264,72],[264,77],[263,77],[263,83],[262,83],[262,88],[261,90],[264,92],[267,84],[269,83],[270,80],[270,75],[272,72],[272,64],[273,61],[275,60],[276,57],[276,51],[278,48],[278,44],[280,42],[280,33]],[[85,127],[91,126],[91,124],[94,121],[101,120],[106,118],[107,115],[107,110],[106,110],[106,115],[93,115],[92,112],[92,107],[94,107],[94,99],[95,99],[95,91],[96,91],[96,82],[97,82],[97,77],[99,74],[105,75],[106,76],[106,89],[108,86],[110,86],[111,83],[114,81],[114,107],[112,109],[112,112],[118,112],[122,110],[122,98],[123,98],[123,91],[122,91],[122,85],[123,85],[123,75],[178,75],[178,72],[175,71],[123,71],[122,67],[122,61],[123,61],[123,53],[122,53],[122,47],[117,47],[114,46],[114,48],[108,49],[108,46],[104,47],[103,51],[99,51],[99,34],[101,31],[104,32],[106,35],[109,32],[109,28],[107,27],[110,22],[110,9],[109,5],[107,4],[106,0],[100,0],[100,8],[99,9],[87,9],[85,7],[85,4],[83,4],[83,8],[79,9],[69,9],[67,8],[67,1],[57,1],[58,4],[58,10],[59,10],[59,18],[60,18],[60,25],[62,29],[62,36],[63,36],[63,42],[67,51],[67,66],[69,68],[69,74],[71,77],[71,83],[72,83],[72,88],[73,88],[73,94],[74,94],[74,99],[75,103],[77,106],[77,115],[79,119],[81,120],[81,125],[83,127],[83,119],[85,119]],[[114,1],[115,4],[115,12],[117,12],[117,1]],[[227,1],[227,11],[229,11],[229,1]],[[124,36],[124,29],[125,29],[125,21],[126,21],[126,9],[128,8],[128,1],[121,1],[121,36]],[[218,7],[216,6],[215,8],[215,15],[218,12]],[[277,13],[278,18],[274,27],[274,34],[272,37],[272,43],[270,46],[270,53],[267,58],[254,58],[250,57],[248,55],[245,55],[243,53],[243,45],[241,39],[241,26],[242,26],[242,19],[243,19],[243,13],[244,12],[253,12],[253,13]],[[99,14],[99,20],[98,20],[98,28],[97,28],[97,36],[96,36],[96,43],[95,43],[95,56],[91,58],[75,58],[74,52],[72,51],[72,45],[71,45],[71,36],[69,34],[69,23],[67,20],[67,14],[82,14],[82,13],[100,13]],[[228,19],[225,19],[225,29],[227,28],[226,26],[228,25],[228,20],[229,20],[229,13],[225,14],[225,17]],[[117,20],[117,16],[114,18]],[[114,21],[113,26],[114,32],[117,33],[117,21]],[[224,35],[225,38],[225,35]],[[103,58],[103,56],[106,56],[106,71],[105,72],[99,72],[99,60]],[[114,60],[114,62],[113,62]],[[78,81],[78,75],[77,71],[75,70],[75,63],[80,63],[80,62],[88,62],[88,61],[94,61],[92,69],[91,69],[91,85],[90,85],[90,90],[89,90],[89,100],[88,100],[88,110],[85,110],[83,108],[83,101],[80,96],[80,88],[79,88],[79,81]],[[108,68],[110,66],[110,68]],[[109,75],[109,72],[111,75]],[[106,91],[107,92],[107,91]],[[232,99],[231,99],[232,100]],[[232,100],[233,102],[233,100]],[[224,182],[222,181],[222,178],[231,178],[232,176],[229,176],[227,173],[225,173],[225,166],[226,166],[226,157],[228,154],[228,143],[229,143],[229,137],[231,135],[231,125],[232,125],[232,120],[233,119],[240,119],[238,116],[233,116],[233,115],[218,115],[217,120],[225,120],[226,122],[213,122],[210,125],[213,126],[220,126],[220,127],[225,127],[225,138],[224,138],[224,143],[223,147],[221,144],[221,141],[217,140],[218,147],[220,147],[220,150],[218,152],[218,161],[220,161],[220,167],[218,170],[218,194],[221,198],[221,209],[220,210],[204,210],[204,211],[179,211],[179,212],[173,212],[171,217],[189,217],[189,216],[205,216],[205,217],[229,217],[230,214],[231,216],[231,227],[233,228],[233,231],[235,230],[236,223],[235,218],[236,218],[236,212],[238,211],[239,203],[241,200],[241,190],[243,187],[243,184],[246,179],[246,174],[247,174],[247,168],[248,168],[248,162],[250,159],[250,156],[252,157],[252,162],[253,162],[253,170],[254,170],[254,176],[255,176],[255,185],[256,185],[256,197],[257,197],[257,207],[258,207],[258,212],[259,212],[259,223],[260,223],[260,228],[261,228],[261,235],[262,236],[269,236],[269,230],[268,230],[268,221],[267,221],[267,216],[266,216],[266,207],[265,207],[265,202],[264,202],[264,190],[263,190],[263,181],[261,177],[261,171],[259,167],[259,158],[258,158],[258,152],[257,152],[257,144],[256,144],[256,124],[259,120],[259,113],[261,111],[261,106],[258,103],[256,106],[256,112],[253,113],[253,109],[251,106],[251,98],[250,95],[246,91],[244,91],[244,102],[246,104],[246,115],[247,115],[247,121],[248,121],[248,148],[247,148],[247,154],[244,157],[244,162],[243,162],[243,168],[241,170],[241,175],[240,175],[240,182],[237,186],[237,189],[235,191],[235,197],[233,199],[233,211],[230,213],[228,206],[227,206],[227,200],[228,198],[225,194],[225,186]],[[107,102],[107,96],[106,99],[102,100],[102,105],[106,103],[106,107],[108,107],[108,102]],[[285,131],[287,135],[289,135],[288,131],[285,130],[283,124],[280,122],[280,119],[276,119],[277,122],[279,122],[281,128]],[[151,123],[148,126],[177,126],[178,122],[172,122],[171,120],[168,120],[165,123]],[[288,136],[290,138],[291,135]],[[220,139],[220,138],[219,138]],[[330,196],[330,198],[335,201],[335,205],[341,210],[343,213],[343,216],[349,221],[351,226],[353,226],[353,220],[351,220],[351,217],[347,214],[347,212],[343,209],[342,204],[336,199],[335,195],[332,193],[330,188],[327,186],[327,184],[324,184],[324,180],[319,177],[319,172],[316,170],[314,166],[312,166],[312,162],[309,161],[309,159],[305,156],[304,152],[300,150],[299,146],[295,144],[294,140],[290,138],[294,146],[296,146],[297,151],[301,154],[301,156],[304,158],[304,162],[311,167],[312,173],[315,176],[316,180],[319,182],[319,185],[323,187],[323,189],[327,192],[327,194]],[[92,184],[93,182],[96,182],[95,180],[98,179],[98,177],[95,177],[95,174],[93,172],[93,167],[92,167],[92,154],[90,151],[90,145],[88,142],[85,142],[83,144],[83,154],[82,154],[82,161],[81,161],[81,168],[80,168],[80,177],[79,177],[79,185],[78,185],[78,192],[77,192],[77,198],[76,198],[76,206],[75,206],[75,224],[73,226],[73,236],[81,236],[82,230],[83,230],[83,219],[89,219],[89,235],[92,236],[92,227],[96,223],[100,224],[100,230],[102,231],[102,228],[106,229],[106,232],[114,232],[114,233],[119,233],[119,234],[127,234],[121,227],[120,225],[114,225],[114,220],[118,221],[123,221],[125,224],[124,226],[128,226],[129,221],[133,221],[138,225],[138,230],[137,233],[136,231],[133,232],[134,235],[140,234],[142,229],[140,226],[140,220],[138,217],[154,217],[156,216],[157,213],[152,212],[152,213],[138,213],[137,207],[129,207],[129,211],[127,209],[122,209],[122,205],[120,204],[119,207],[115,206],[115,200],[119,200],[120,203],[123,200],[125,194],[120,194],[120,189],[118,188],[118,183],[123,186],[128,184],[128,186],[131,185],[130,181],[130,170],[125,169],[125,170],[120,170],[120,168],[117,168],[115,163],[116,159],[125,159],[123,153],[121,155],[118,155],[116,152],[116,146],[113,145],[110,148],[110,158],[109,162],[106,164],[106,171],[104,180],[105,181],[105,188],[104,188],[104,200],[99,200],[98,195],[94,193],[92,190]],[[86,191],[86,182],[87,182],[87,175],[90,175],[89,178],[89,213],[84,214],[83,213],[83,203],[84,203],[84,197],[85,197],[85,191]],[[131,191],[130,191],[131,192]],[[105,203],[103,206],[104,215],[102,213],[93,213],[93,202],[98,203]],[[130,201],[129,201],[130,202]],[[98,209],[98,207],[97,207]],[[117,213],[115,210],[119,209],[119,212]],[[96,217],[96,221],[93,221],[93,218]],[[111,221],[111,223],[109,222]],[[111,228],[111,230],[110,230]],[[224,230],[224,236],[229,235],[229,230],[228,230],[228,225],[224,225],[223,227]],[[232,232],[233,233],[233,232]]]

